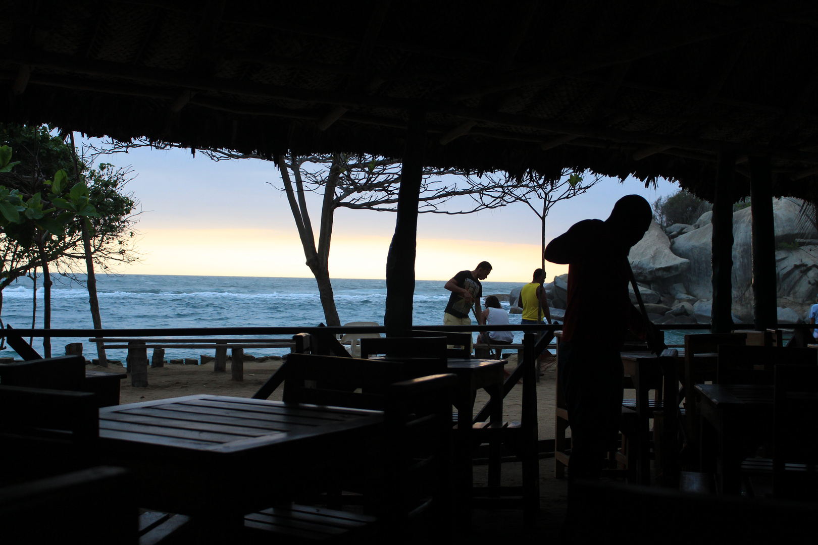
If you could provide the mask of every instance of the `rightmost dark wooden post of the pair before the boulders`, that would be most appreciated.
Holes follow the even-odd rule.
[[[750,209],[753,212],[753,321],[758,331],[778,327],[775,278],[775,221],[769,157],[750,156]]]

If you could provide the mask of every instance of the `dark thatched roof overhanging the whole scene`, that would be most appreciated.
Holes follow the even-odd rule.
[[[0,121],[277,154],[818,196],[815,2],[3,2]]]

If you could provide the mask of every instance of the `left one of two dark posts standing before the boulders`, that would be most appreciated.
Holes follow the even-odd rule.
[[[718,155],[716,195],[713,199],[712,233],[712,333],[730,333],[733,328],[733,173],[735,153]]]

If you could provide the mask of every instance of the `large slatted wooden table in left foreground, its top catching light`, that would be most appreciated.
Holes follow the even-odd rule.
[[[188,395],[100,409],[100,437],[106,461],[136,472],[142,507],[237,524],[361,463],[383,421],[379,411]]]

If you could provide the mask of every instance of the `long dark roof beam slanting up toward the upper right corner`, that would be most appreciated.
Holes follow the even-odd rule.
[[[507,91],[525,85],[544,83],[560,76],[582,74],[606,66],[618,65],[623,62],[654,56],[658,53],[672,51],[698,42],[707,42],[721,38],[728,34],[735,34],[742,30],[751,29],[758,25],[770,25],[777,20],[777,11],[759,9],[744,11],[729,20],[706,20],[703,25],[695,25],[676,29],[659,29],[656,33],[640,37],[638,41],[624,47],[609,49],[600,53],[599,49],[592,49],[589,53],[579,56],[562,58],[535,68],[516,70],[501,75],[501,81],[484,85],[476,83],[473,86],[461,86],[444,90],[441,96],[447,96],[452,101],[462,101],[467,98],[483,96],[488,93]]]

